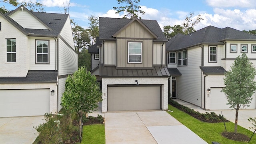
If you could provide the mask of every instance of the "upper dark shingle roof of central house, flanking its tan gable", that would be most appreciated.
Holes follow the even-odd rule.
[[[118,30],[123,28],[132,19],[124,18],[99,18],[100,40],[116,40],[112,37]],[[167,41],[156,20],[140,20],[149,30],[151,30],[159,41]]]

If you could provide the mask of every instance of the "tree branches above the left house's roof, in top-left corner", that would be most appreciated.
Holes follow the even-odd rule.
[[[24,2],[22,1],[21,3],[17,2],[17,0],[2,0],[0,2],[4,2],[6,4],[10,4],[12,6],[18,6],[18,5],[23,5],[26,8],[28,8],[30,11],[37,11],[37,12],[45,12],[44,8],[43,8],[43,4],[41,4],[40,2]],[[3,14],[8,12],[9,10],[7,10],[4,6],[0,7],[0,12],[2,12]]]

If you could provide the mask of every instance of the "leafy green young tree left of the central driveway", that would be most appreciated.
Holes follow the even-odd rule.
[[[82,116],[94,111],[101,99],[101,90],[96,76],[91,75],[84,66],[78,68],[66,80],[65,91],[62,94],[61,105],[80,116],[80,136],[82,132]]]

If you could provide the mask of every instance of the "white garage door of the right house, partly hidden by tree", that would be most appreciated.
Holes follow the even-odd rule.
[[[226,105],[228,103],[224,92],[220,92],[222,88],[211,88],[211,108],[210,110],[229,110],[230,105]],[[256,102],[255,102],[255,94],[253,95],[252,102],[249,108],[245,107],[246,109],[255,109]]]

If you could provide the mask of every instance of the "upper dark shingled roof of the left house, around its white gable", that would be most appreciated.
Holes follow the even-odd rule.
[[[18,7],[16,10],[18,10],[20,8],[21,8],[21,6]],[[27,10],[24,6],[23,6],[23,8],[24,8],[24,10]],[[8,22],[10,22],[10,24],[15,26],[18,30],[20,30],[21,32],[23,32],[24,34],[26,34],[28,36],[57,37],[60,34],[60,32],[61,32],[62,28],[64,27],[64,24],[66,23],[66,20],[68,18],[68,14],[30,12],[28,10],[28,12],[30,12],[30,14],[32,16],[34,16],[35,18],[40,20],[40,22],[42,22],[46,27],[49,28],[49,30],[29,29],[29,28],[23,28],[22,26],[20,26],[20,24],[18,24],[12,18],[9,17],[12,13],[16,12],[16,10],[8,12],[6,14],[0,13],[0,16],[2,16],[4,19],[6,19]]]

